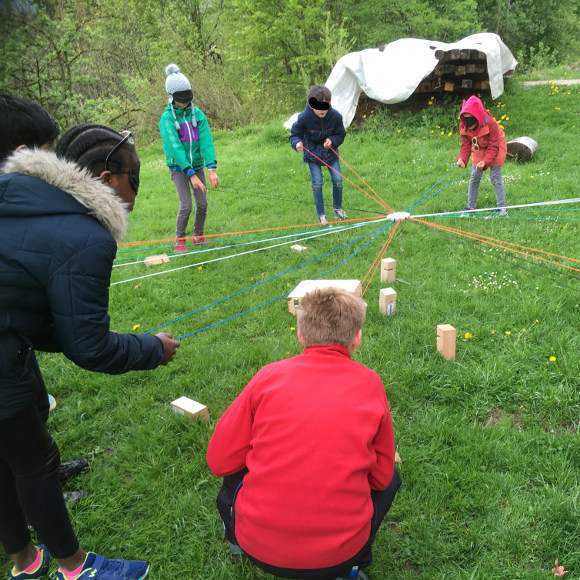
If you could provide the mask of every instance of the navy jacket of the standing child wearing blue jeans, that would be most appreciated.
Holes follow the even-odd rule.
[[[306,108],[298,115],[298,119],[290,130],[290,144],[292,147],[296,149],[296,145],[302,142],[305,147],[304,161],[316,163],[317,165],[324,165],[324,163],[332,165],[337,159],[337,156],[330,149],[324,148],[326,139],[330,139],[332,148],[338,151],[338,147],[342,145],[345,137],[346,130],[342,123],[342,115],[336,109],[330,107],[326,116],[321,119],[309,107],[308,103],[306,103]],[[319,159],[322,159],[324,163],[316,159],[306,149]]]

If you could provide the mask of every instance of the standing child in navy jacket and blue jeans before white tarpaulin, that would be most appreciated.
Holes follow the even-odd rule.
[[[340,161],[335,151],[342,145],[346,131],[342,115],[330,106],[332,95],[330,89],[316,85],[308,93],[306,108],[290,131],[290,144],[296,151],[302,152],[305,163],[310,168],[314,205],[318,221],[328,224],[322,196],[322,165],[328,167],[332,180],[332,207],[334,219],[346,219],[342,209],[342,175]],[[333,151],[334,150],[334,151]]]

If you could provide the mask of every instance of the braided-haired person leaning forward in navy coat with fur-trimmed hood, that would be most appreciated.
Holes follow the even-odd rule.
[[[12,121],[0,118],[0,128]],[[139,186],[130,134],[81,125],[63,135],[57,152],[20,149],[0,176],[0,541],[14,563],[9,578],[44,577],[52,556],[58,580],[138,580],[147,562],[109,560],[79,545],[59,484],[59,450],[46,430],[35,350],[118,374],[169,362],[179,343],[166,333],[109,328],[115,240]],[[45,545],[32,543],[27,520]]]

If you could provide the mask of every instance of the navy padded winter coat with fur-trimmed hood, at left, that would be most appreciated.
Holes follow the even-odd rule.
[[[0,419],[35,401],[34,350],[109,374],[163,362],[155,336],[109,329],[109,283],[127,212],[114,191],[47,151],[0,176]],[[41,380],[41,379],[40,379]]]

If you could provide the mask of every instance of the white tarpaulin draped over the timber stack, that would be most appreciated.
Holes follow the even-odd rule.
[[[496,99],[503,93],[504,75],[511,75],[518,62],[497,34],[473,34],[452,44],[402,38],[387,44],[382,51],[369,48],[343,56],[324,83],[332,92],[332,106],[341,113],[344,126],[348,127],[356,113],[361,92],[387,105],[400,103],[433,72],[439,62],[435,51],[454,49],[485,53],[491,96]],[[292,127],[297,115],[293,115],[284,126]]]

